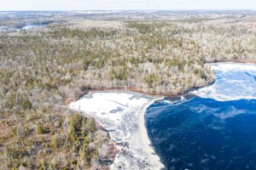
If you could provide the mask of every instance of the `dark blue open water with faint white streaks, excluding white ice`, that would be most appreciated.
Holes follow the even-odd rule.
[[[145,119],[166,169],[256,169],[255,99],[164,100],[151,105]]]

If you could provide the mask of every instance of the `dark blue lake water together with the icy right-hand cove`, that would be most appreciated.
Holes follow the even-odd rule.
[[[192,98],[162,100],[145,114],[166,169],[255,169],[255,65],[211,65],[216,82]]]

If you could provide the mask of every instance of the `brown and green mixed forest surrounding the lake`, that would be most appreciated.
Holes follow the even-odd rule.
[[[183,94],[214,81],[208,62],[256,61],[256,15],[161,17],[0,31],[0,169],[108,169],[108,131],[70,101],[96,89]]]

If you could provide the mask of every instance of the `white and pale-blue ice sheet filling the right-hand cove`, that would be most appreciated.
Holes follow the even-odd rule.
[[[192,94],[218,101],[256,99],[256,65],[215,63],[207,66],[215,72],[216,81]]]

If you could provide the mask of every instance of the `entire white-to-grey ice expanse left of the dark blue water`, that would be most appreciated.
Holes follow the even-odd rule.
[[[112,169],[160,169],[163,165],[150,147],[144,123],[146,109],[157,99],[162,97],[125,91],[94,92],[74,101],[70,108],[95,117],[119,143],[120,152]]]

